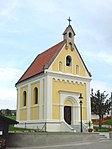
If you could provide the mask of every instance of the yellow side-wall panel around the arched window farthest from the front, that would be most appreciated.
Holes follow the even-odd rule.
[[[26,106],[23,106],[23,92],[26,91]],[[28,86],[20,89],[20,120],[27,120]]]

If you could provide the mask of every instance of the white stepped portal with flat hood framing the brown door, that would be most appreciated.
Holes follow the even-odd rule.
[[[71,122],[71,126],[73,125],[79,125],[80,121],[80,106],[79,106],[79,93],[73,93],[73,92],[60,92],[60,103],[62,106],[60,106],[60,121],[64,121],[68,125]],[[66,120],[66,108],[65,106],[68,106],[70,108],[69,119],[71,119],[70,122]]]

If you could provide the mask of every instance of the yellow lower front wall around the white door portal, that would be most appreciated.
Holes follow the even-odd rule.
[[[60,80],[52,80],[52,118],[53,119],[60,119],[60,92],[59,91],[66,91],[66,92],[79,92],[83,95],[83,106],[86,106],[86,84],[78,84],[78,83],[70,83],[60,81]],[[67,100],[65,104],[71,105],[72,103]],[[57,105],[57,106],[56,106]],[[83,120],[86,120],[86,108],[83,108]]]

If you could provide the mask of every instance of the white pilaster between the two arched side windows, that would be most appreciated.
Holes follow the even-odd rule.
[[[28,84],[28,97],[27,97],[27,121],[30,120],[30,100],[31,100],[31,85]]]

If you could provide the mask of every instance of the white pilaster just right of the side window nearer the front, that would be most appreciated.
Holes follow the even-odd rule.
[[[39,120],[42,120],[43,107],[43,80],[40,80],[40,105],[39,105]]]

